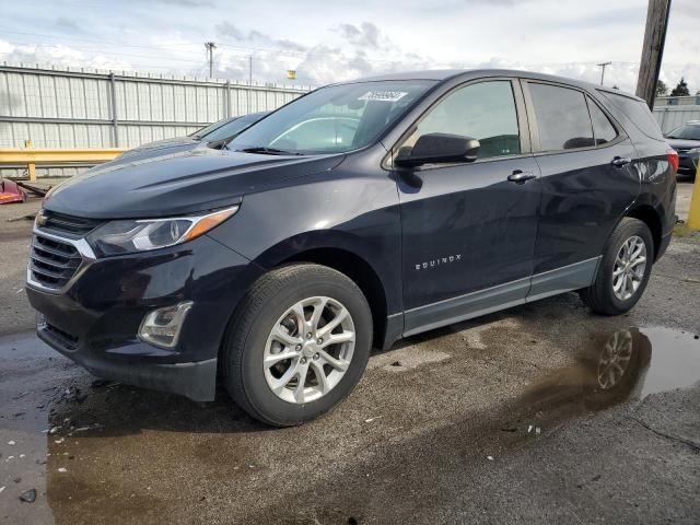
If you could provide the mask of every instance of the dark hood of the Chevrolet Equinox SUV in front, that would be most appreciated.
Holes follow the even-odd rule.
[[[200,148],[107,163],[57,186],[47,210],[91,219],[167,217],[231,206],[247,192],[332,170],[345,155],[264,155]]]

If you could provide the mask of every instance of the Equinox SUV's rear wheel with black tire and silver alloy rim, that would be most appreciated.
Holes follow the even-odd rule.
[[[654,241],[646,224],[626,217],[612,231],[603,253],[594,283],[581,290],[591,310],[620,315],[644,293],[654,260]]]

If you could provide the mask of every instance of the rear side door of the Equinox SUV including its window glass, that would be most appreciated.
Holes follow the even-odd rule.
[[[528,299],[587,287],[640,190],[634,147],[584,91],[524,81],[542,202]]]

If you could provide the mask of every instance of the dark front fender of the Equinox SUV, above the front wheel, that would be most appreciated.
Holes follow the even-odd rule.
[[[246,195],[238,212],[209,235],[266,269],[308,250],[353,254],[382,281],[387,312],[401,310],[398,195],[384,172],[340,167]]]

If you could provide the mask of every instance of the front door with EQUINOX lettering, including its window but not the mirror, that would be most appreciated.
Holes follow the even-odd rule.
[[[405,335],[525,300],[540,182],[521,96],[508,79],[459,86],[399,143],[436,132],[481,143],[475,162],[396,171]]]

